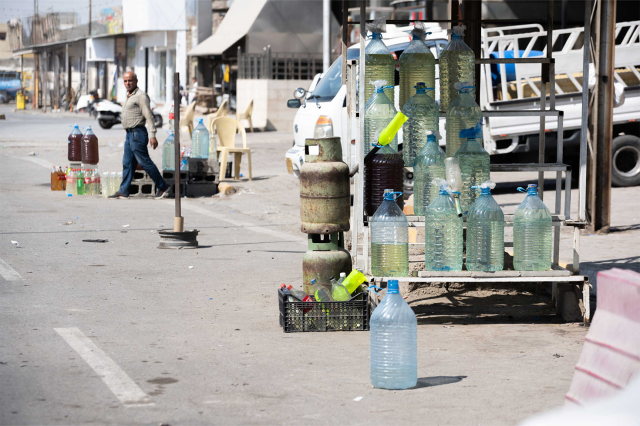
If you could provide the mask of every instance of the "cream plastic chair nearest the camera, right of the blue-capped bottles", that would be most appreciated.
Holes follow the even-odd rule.
[[[225,178],[227,170],[227,160],[229,154],[233,154],[234,179],[240,179],[240,162],[242,154],[247,154],[247,163],[249,165],[249,180],[253,180],[251,176],[251,148],[247,148],[247,132],[240,123],[232,117],[218,117],[211,123],[211,132],[216,132],[220,145],[217,147],[218,158],[220,159],[220,181]],[[242,136],[242,148],[235,147],[236,131]]]

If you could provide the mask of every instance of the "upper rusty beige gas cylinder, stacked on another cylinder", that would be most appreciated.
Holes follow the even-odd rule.
[[[301,230],[334,234],[349,230],[349,167],[340,138],[307,139],[300,169]]]

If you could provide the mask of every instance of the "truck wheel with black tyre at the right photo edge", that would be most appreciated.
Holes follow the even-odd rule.
[[[618,136],[613,140],[611,150],[611,183],[614,186],[640,185],[640,138]]]

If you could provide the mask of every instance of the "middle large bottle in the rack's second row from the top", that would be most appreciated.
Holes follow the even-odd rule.
[[[415,86],[416,94],[402,106],[402,112],[408,117],[403,126],[403,157],[405,167],[413,167],[416,155],[427,143],[427,131],[439,129],[438,104],[427,95],[433,87],[423,82]]]

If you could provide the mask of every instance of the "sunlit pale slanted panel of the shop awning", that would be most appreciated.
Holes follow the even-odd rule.
[[[267,0],[235,0],[216,33],[191,49],[189,56],[215,56],[247,35]]]

